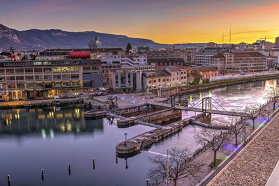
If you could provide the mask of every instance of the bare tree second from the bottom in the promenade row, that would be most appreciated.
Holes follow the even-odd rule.
[[[195,134],[197,144],[203,145],[213,151],[213,166],[216,165],[216,155],[218,150],[227,140],[229,132],[222,130],[207,130],[203,129]]]

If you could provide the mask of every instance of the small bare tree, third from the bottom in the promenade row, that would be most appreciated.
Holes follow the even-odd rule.
[[[244,130],[246,130],[246,120],[238,116],[232,116],[232,121],[229,125],[229,132],[234,134],[236,146],[238,144],[238,136],[244,132]]]

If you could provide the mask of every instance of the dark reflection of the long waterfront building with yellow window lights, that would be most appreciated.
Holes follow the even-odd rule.
[[[56,133],[103,131],[103,119],[86,122],[84,109],[67,107],[67,109],[30,109],[29,111],[1,111],[0,134],[36,134],[42,137],[54,137]]]

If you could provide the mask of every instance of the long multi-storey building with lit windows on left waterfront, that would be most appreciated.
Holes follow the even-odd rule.
[[[0,94],[10,100],[66,97],[102,87],[100,60],[0,61]]]

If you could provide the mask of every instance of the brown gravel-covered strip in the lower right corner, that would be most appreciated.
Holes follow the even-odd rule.
[[[279,114],[208,185],[265,185],[279,160]]]

